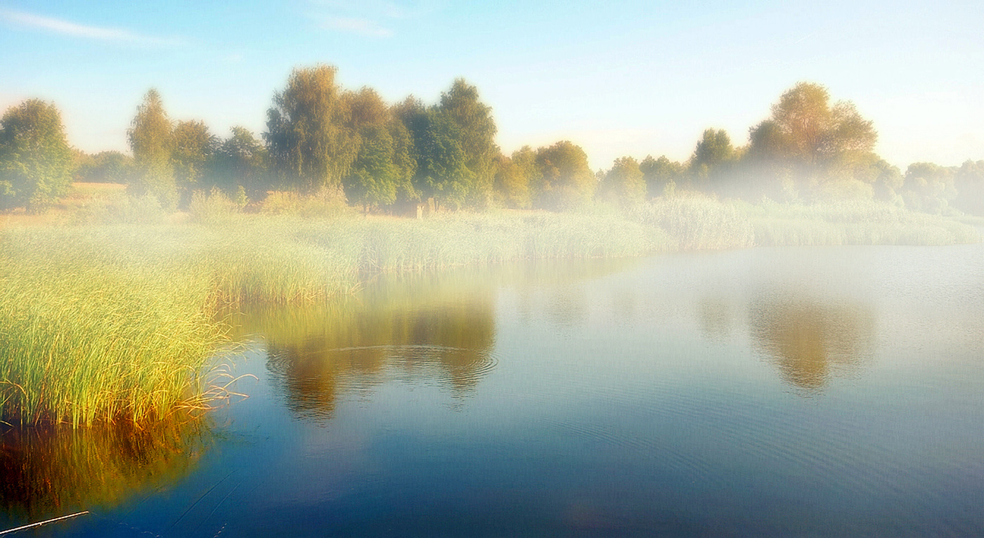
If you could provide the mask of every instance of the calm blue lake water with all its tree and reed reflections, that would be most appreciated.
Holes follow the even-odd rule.
[[[250,397],[4,434],[41,536],[984,535],[984,246],[452,271],[235,319]]]

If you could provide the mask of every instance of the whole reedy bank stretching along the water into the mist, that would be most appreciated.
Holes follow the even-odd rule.
[[[378,272],[756,245],[980,241],[953,219],[871,203],[681,197],[625,212],[422,219],[204,208],[151,223],[56,219],[0,229],[0,419],[83,425],[206,409],[228,381],[209,366],[228,341],[217,312],[324,300]],[[133,222],[140,211],[125,214]]]

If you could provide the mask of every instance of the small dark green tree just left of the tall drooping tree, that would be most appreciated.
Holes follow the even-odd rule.
[[[215,149],[215,186],[232,195],[242,187],[251,200],[262,199],[273,187],[268,175],[267,149],[253,133],[234,126],[229,138]]]

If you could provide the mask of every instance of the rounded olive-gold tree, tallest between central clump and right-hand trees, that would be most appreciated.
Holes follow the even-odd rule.
[[[583,205],[594,195],[596,180],[580,146],[561,141],[536,150],[537,177],[533,206],[564,210]]]

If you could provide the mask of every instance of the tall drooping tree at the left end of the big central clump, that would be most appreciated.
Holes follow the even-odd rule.
[[[355,160],[358,141],[336,72],[323,64],[294,69],[274,95],[263,137],[285,185],[307,192],[338,187]]]

